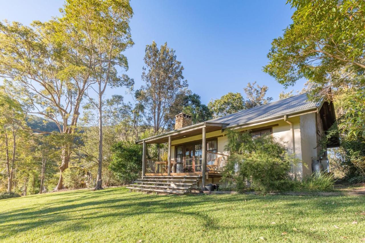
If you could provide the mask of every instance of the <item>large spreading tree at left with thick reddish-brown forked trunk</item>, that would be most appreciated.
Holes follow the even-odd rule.
[[[0,77],[14,89],[35,113],[57,124],[59,132],[74,134],[85,91],[91,85],[71,38],[57,20],[0,23]],[[38,134],[50,132],[37,131]],[[68,168],[70,143],[61,144],[60,176],[56,190],[62,189],[62,171]]]

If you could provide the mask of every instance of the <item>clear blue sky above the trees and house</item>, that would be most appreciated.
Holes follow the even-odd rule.
[[[183,75],[192,92],[204,104],[228,92],[241,92],[247,82],[269,87],[267,95],[278,99],[284,90],[262,72],[270,43],[291,23],[293,9],[285,0],[193,1],[132,0],[134,16],[130,27],[135,45],[125,52],[127,74],[135,88],[142,85],[145,46],[168,42],[184,66]],[[0,0],[0,19],[30,24],[59,15],[63,0]],[[304,80],[288,90],[301,90]],[[288,91],[287,90],[287,91]],[[122,88],[109,89],[107,96]]]

